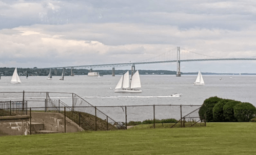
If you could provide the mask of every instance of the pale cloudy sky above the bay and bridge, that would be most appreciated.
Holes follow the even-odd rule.
[[[256,1],[1,1],[0,67],[256,58]],[[256,73],[255,61],[181,62],[181,72]],[[111,68],[99,68],[110,70]],[[115,70],[130,67],[115,68]],[[176,70],[176,63],[136,65]]]

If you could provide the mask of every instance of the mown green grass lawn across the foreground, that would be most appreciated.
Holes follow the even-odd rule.
[[[162,124],[161,124],[162,125]],[[256,154],[256,123],[3,136],[0,154]]]

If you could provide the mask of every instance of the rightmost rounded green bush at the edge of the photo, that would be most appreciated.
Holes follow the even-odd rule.
[[[239,122],[248,122],[256,114],[256,108],[251,103],[238,103],[233,107],[234,117]]]

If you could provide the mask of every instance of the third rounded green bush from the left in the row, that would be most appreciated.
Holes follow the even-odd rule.
[[[227,122],[236,122],[237,119],[234,117],[234,109],[233,107],[237,105],[238,103],[241,103],[240,101],[229,101],[223,106],[223,112],[225,121]]]

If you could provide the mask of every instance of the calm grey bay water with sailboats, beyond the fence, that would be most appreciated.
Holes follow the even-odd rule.
[[[110,75],[103,76],[101,79],[88,76],[66,76],[64,81],[59,80],[60,77],[56,76],[53,77],[53,80],[46,80],[46,76],[29,77],[28,79],[20,77],[22,84],[10,84],[11,77],[2,77],[0,88],[1,92],[22,92],[24,90],[25,92],[75,93],[80,97],[84,97],[86,101],[94,106],[202,105],[206,98],[212,96],[249,102],[256,106],[256,96],[254,95],[256,86],[255,75],[232,75],[232,78],[229,78],[230,75],[203,75],[204,86],[194,86],[192,84],[196,79],[196,75],[182,75],[182,77],[175,77],[175,75],[140,75],[140,77],[142,93],[114,93],[113,90],[110,90],[110,87],[115,87],[121,75],[116,75],[115,77]],[[221,77],[224,80],[219,80]],[[183,96],[168,97],[173,93],[182,93]],[[71,105],[72,102],[67,104]],[[44,106],[44,104],[28,106]],[[141,110],[134,110],[134,108],[129,107],[128,112],[135,115],[134,113],[137,114],[145,111],[143,110],[145,107],[140,108]],[[151,118],[152,107],[148,108],[150,108],[148,113]],[[139,109],[139,107],[136,109]],[[161,113],[166,113],[164,109],[156,109],[159,119],[164,118],[160,115]],[[102,110],[104,113],[113,112],[112,109],[107,108]],[[122,113],[120,115],[124,115],[123,107],[120,107],[119,110]],[[172,116],[172,118],[177,118],[179,107],[176,107],[175,111],[177,114]],[[188,112],[191,112],[191,109]],[[140,120],[141,116],[142,114],[130,119]],[[148,116],[145,118],[148,119]]]

